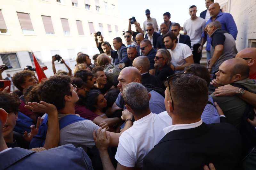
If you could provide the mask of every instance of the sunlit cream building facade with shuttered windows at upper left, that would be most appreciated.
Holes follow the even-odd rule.
[[[52,76],[52,55],[59,54],[71,69],[78,52],[99,53],[93,33],[100,31],[112,44],[121,36],[117,0],[1,0],[0,64],[12,66],[7,73],[33,66],[33,51],[44,73]],[[67,70],[56,63],[56,70]]]

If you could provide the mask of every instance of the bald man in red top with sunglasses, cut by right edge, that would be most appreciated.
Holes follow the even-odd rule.
[[[256,79],[256,48],[244,48],[236,54],[236,58],[243,58],[248,63],[249,78]]]

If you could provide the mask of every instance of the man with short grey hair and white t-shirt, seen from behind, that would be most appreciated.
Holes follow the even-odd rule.
[[[132,113],[135,122],[133,126],[122,133],[116,152],[118,162],[116,169],[142,168],[143,159],[148,152],[164,137],[164,128],[172,125],[171,117],[166,113],[153,114],[149,108],[151,95],[146,87],[137,82],[131,82],[123,88],[125,106]],[[108,151],[102,149],[102,145],[108,145],[109,141],[104,135],[105,130],[98,130],[96,146],[99,149],[102,164],[108,169],[114,169]],[[101,134],[102,135],[101,135]]]

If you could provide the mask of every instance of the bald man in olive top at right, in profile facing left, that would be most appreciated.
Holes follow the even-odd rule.
[[[239,98],[243,96],[247,90],[256,93],[256,84],[248,78],[249,76],[248,63],[242,58],[232,58],[224,61],[219,71],[216,73],[216,83],[224,85],[232,85],[238,87],[237,95],[234,96],[215,96],[212,94],[212,99],[216,101],[227,117],[227,122],[240,128],[242,116],[244,115],[247,103]]]

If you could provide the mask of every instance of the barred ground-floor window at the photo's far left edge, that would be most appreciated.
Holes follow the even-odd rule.
[[[20,68],[20,63],[16,53],[1,54],[1,58],[6,66],[12,66],[13,69]]]

